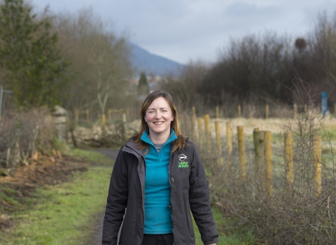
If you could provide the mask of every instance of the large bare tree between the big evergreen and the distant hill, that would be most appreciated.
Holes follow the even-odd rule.
[[[70,76],[75,80],[72,97],[64,98],[68,108],[99,108],[117,104],[128,89],[132,68],[125,36],[117,36],[92,10],[55,18],[64,56],[72,60]],[[119,103],[120,104],[120,103]]]

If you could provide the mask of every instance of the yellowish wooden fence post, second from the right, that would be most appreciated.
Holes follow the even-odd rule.
[[[293,136],[292,133],[285,133],[285,165],[286,165],[286,188],[290,190],[294,186],[293,171]]]

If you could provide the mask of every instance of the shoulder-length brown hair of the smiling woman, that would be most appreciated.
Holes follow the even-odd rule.
[[[142,134],[144,134],[146,130],[148,130],[148,125],[145,121],[146,111],[148,107],[151,106],[153,101],[155,99],[158,99],[158,97],[162,97],[167,100],[170,106],[170,109],[172,110],[173,117],[174,117],[174,120],[172,120],[170,127],[174,130],[177,136],[177,139],[174,140],[174,148],[172,149],[172,152],[176,151],[176,149],[179,149],[179,151],[181,151],[184,148],[184,146],[186,146],[186,140],[180,131],[179,118],[177,116],[177,110],[176,110],[176,106],[174,104],[173,98],[168,92],[164,92],[164,91],[156,90],[146,97],[144,104],[142,104],[141,111],[140,111],[140,119],[141,119],[140,129],[137,134],[134,134],[132,139],[134,143],[137,144],[139,148],[141,148],[141,150],[144,150],[145,148],[148,149],[148,144],[141,140],[141,136]]]

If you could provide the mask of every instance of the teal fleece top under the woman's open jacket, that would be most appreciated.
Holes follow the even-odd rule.
[[[160,153],[145,131],[141,140],[149,145],[145,155],[145,224],[144,234],[168,234],[172,228],[172,203],[170,201],[169,158],[172,141],[177,139],[174,130],[163,144]]]

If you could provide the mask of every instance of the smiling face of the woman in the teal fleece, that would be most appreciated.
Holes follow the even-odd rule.
[[[163,97],[155,99],[146,110],[145,121],[149,127],[149,134],[153,136],[167,135],[168,139],[172,120],[174,120],[172,109]]]

